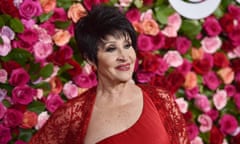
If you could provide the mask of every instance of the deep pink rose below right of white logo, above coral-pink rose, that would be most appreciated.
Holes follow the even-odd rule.
[[[213,16],[209,16],[205,19],[203,28],[209,36],[217,36],[222,31],[218,20]]]

